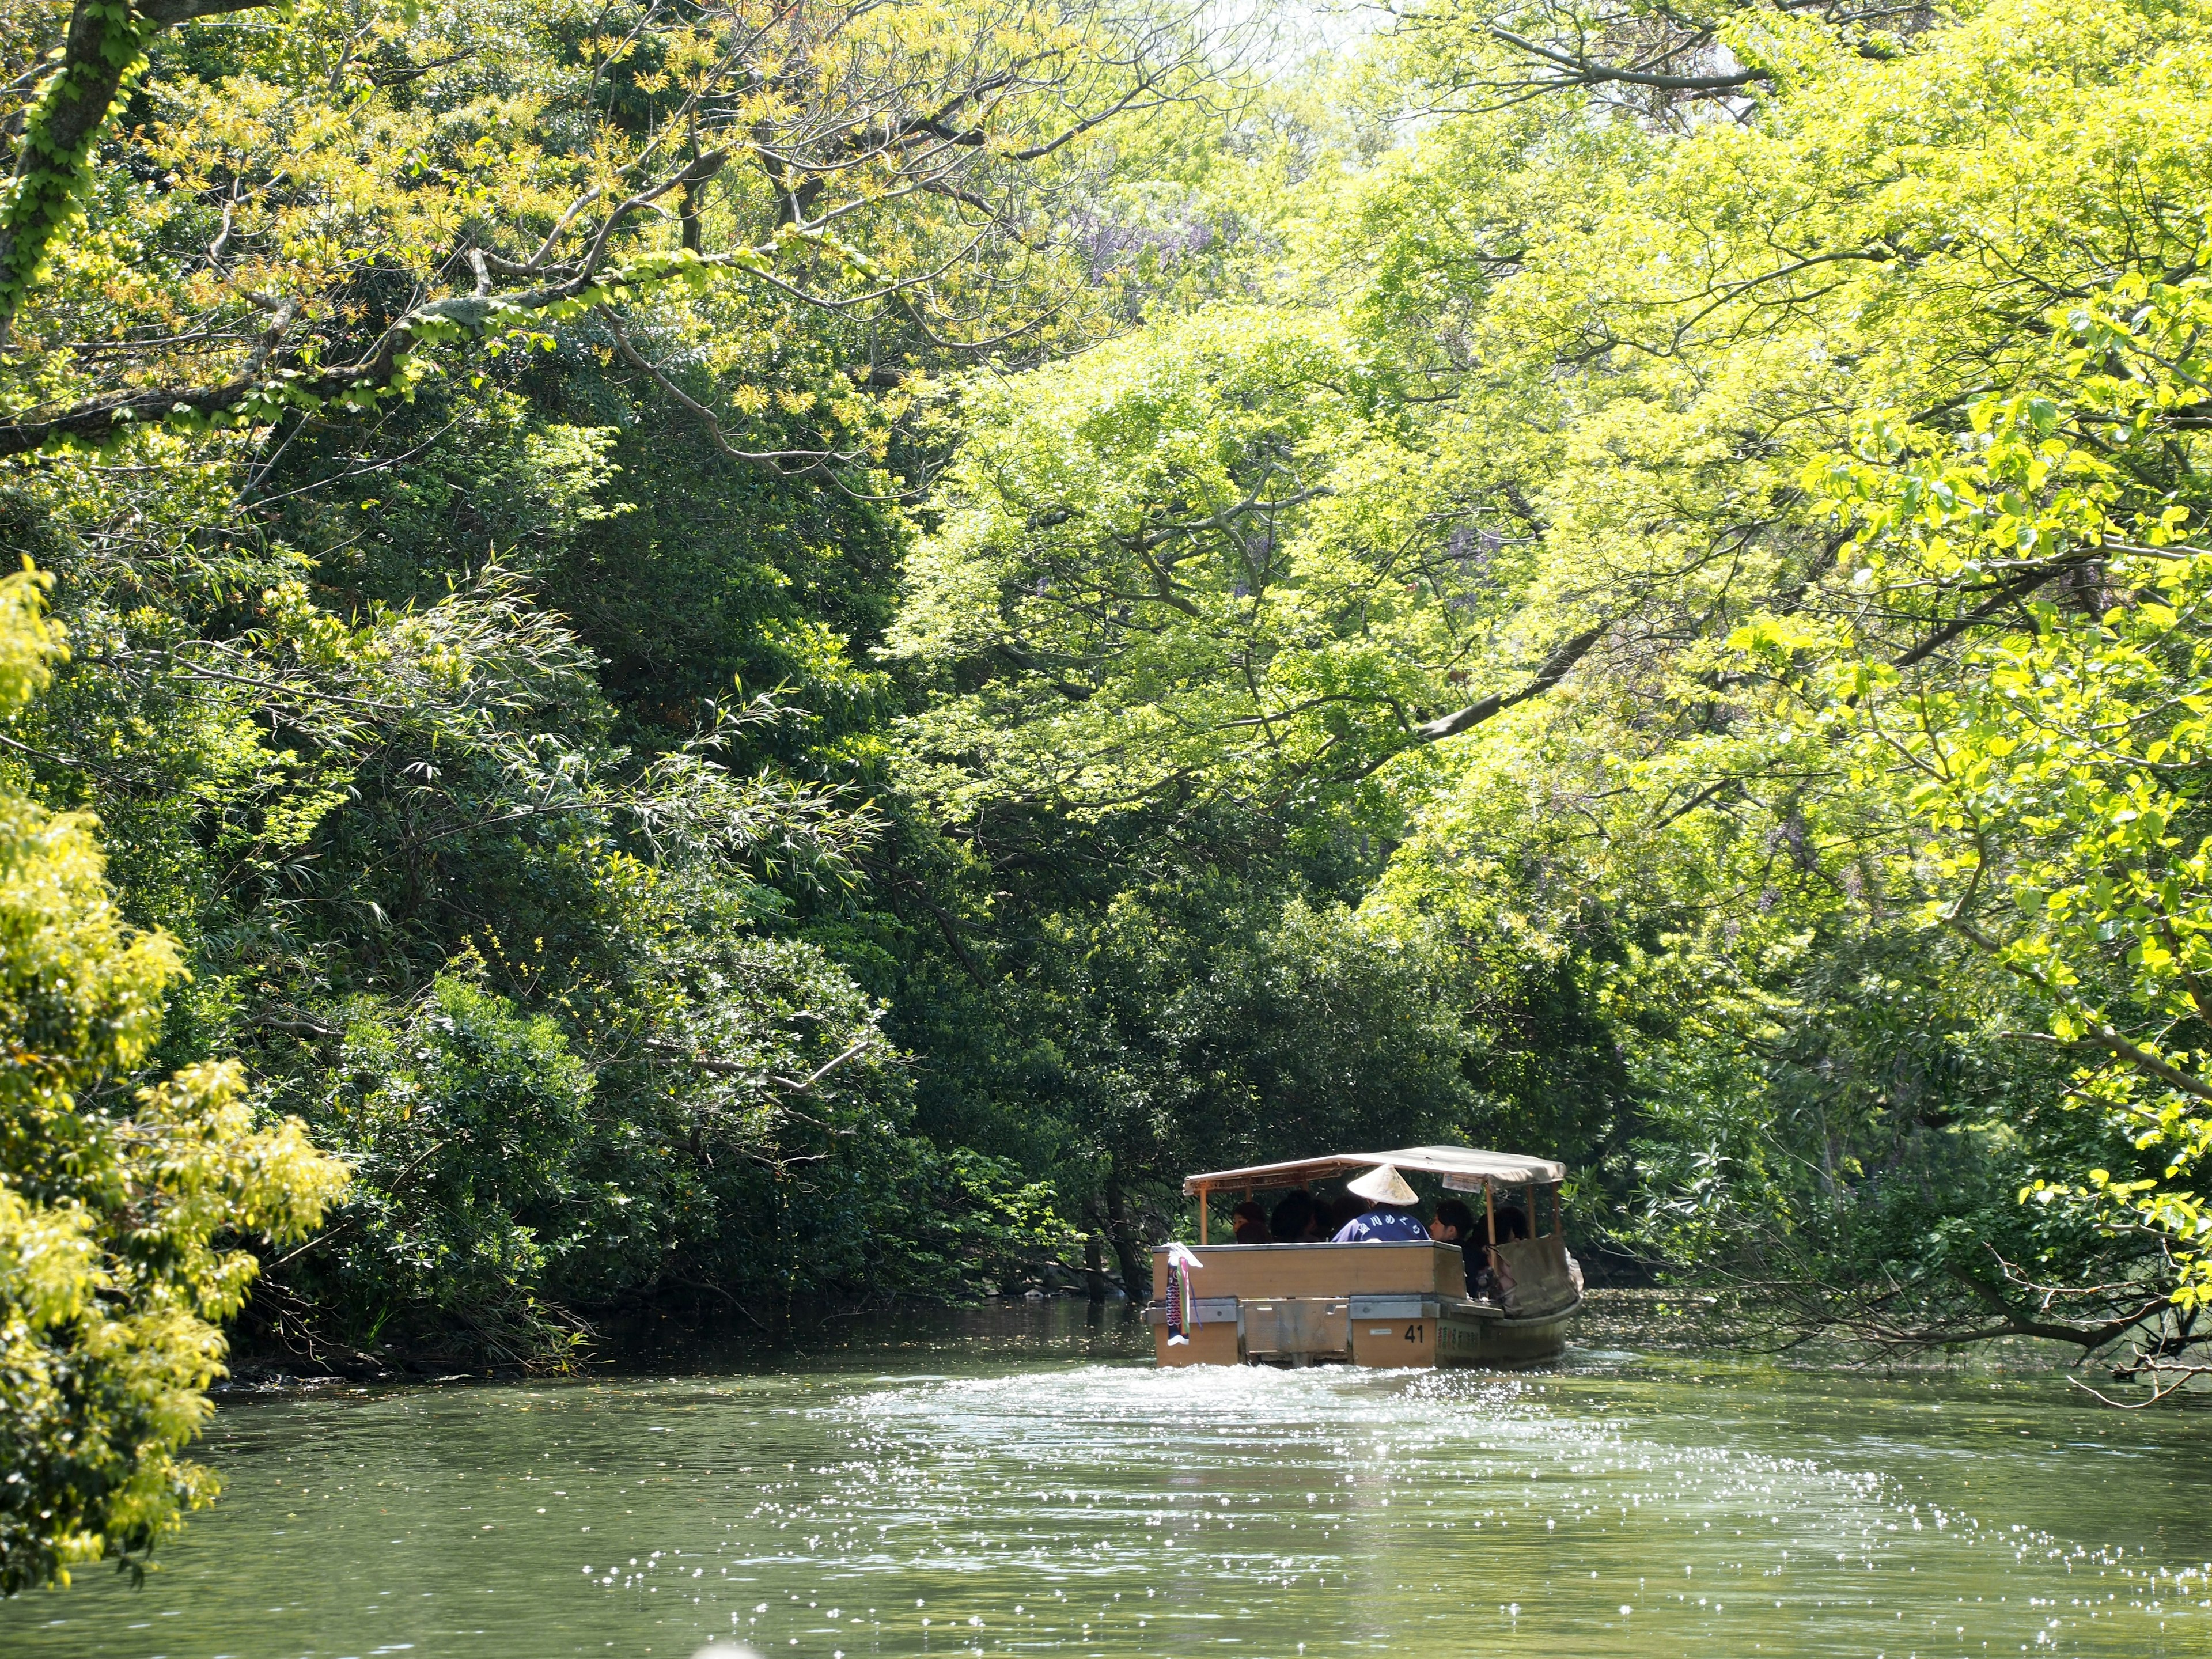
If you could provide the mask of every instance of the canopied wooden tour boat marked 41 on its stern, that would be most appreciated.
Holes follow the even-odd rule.
[[[1484,1281],[1489,1294],[1469,1296],[1467,1259],[1455,1243],[1208,1243],[1214,1197],[1303,1188],[1383,1164],[1433,1175],[1447,1190],[1469,1194],[1475,1228],[1486,1234],[1471,1248],[1504,1270]],[[1146,1318],[1155,1354],[1161,1365],[1436,1367],[1557,1358],[1582,1305],[1559,1228],[1564,1179],[1564,1164],[1467,1146],[1334,1152],[1192,1175],[1183,1192],[1199,1201],[1197,1248],[1152,1250]],[[1513,1201],[1535,1237],[1500,1241],[1498,1210]]]

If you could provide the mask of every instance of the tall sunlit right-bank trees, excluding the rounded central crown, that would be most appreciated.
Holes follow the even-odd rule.
[[[1469,38],[1398,51],[1436,84]],[[2146,779],[2192,796],[2188,750],[2119,732],[2194,697],[2159,549],[2201,502],[2197,301],[2157,285],[2203,234],[2166,206],[2205,177],[2203,51],[2197,7],[2000,4],[1743,53],[1776,66],[1743,124],[1522,104],[1363,184],[1371,338],[1455,387],[1433,476],[1535,533],[1495,615],[1601,622],[1548,699],[1385,774],[1416,827],[1378,896],[1604,942],[1641,1115],[1615,1225],[1807,1285],[1814,1323],[2095,1347],[2181,1292],[2188,1329],[2197,1113],[2099,1106],[2174,1084],[2081,1044],[2197,1042],[2152,984],[2172,874],[2119,830],[2163,823]],[[2013,887],[2068,929],[2000,925]],[[2062,1197],[2097,1181],[2177,1208]]]

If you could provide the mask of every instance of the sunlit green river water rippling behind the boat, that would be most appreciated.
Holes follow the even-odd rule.
[[[1606,1347],[1157,1371],[1119,1310],[650,1376],[230,1398],[139,1590],[7,1659],[2212,1657],[2212,1413]]]

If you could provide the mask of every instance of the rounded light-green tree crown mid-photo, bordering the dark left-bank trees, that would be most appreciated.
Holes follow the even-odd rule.
[[[989,668],[914,726],[973,790],[1126,810],[1358,776],[1467,679],[1473,544],[1405,491],[1340,330],[1203,312],[969,392],[891,648]]]

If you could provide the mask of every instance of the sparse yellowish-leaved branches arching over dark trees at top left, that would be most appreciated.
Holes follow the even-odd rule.
[[[1088,0],[307,4],[157,42],[259,2],[80,0],[51,71],[18,77],[0,456],[358,414],[436,374],[442,343],[513,349],[588,319],[721,453],[849,465],[867,456],[854,389],[911,374],[878,334],[978,347],[1082,312],[1066,250],[1037,234],[1053,192],[1082,188],[1086,137],[1212,77],[1186,18]],[[159,115],[126,148],[161,186],[115,234],[146,192],[95,144],[157,44]],[[334,97],[347,117],[319,119]],[[84,197],[93,234],[62,239]],[[748,447],[748,405],[699,403],[635,334],[661,330],[648,296],[732,281],[867,334],[801,442]]]

